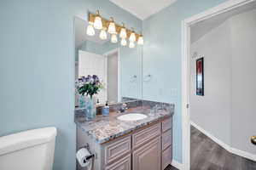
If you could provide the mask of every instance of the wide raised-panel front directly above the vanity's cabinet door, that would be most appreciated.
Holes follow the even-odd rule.
[[[145,128],[142,131],[132,134],[132,147],[136,148],[137,146],[147,142],[150,139],[154,139],[159,135],[160,123],[155,124],[152,127]]]

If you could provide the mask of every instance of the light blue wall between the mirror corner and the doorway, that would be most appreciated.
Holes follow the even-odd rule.
[[[181,25],[182,20],[225,0],[177,0],[147,20],[143,20],[143,98],[172,102],[176,105],[173,120],[173,156],[182,162],[181,116]]]

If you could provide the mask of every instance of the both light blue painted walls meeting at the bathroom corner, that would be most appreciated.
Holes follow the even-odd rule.
[[[142,30],[144,99],[173,102],[174,159],[182,161],[181,21],[225,0],[178,0],[143,23],[104,0],[0,2],[0,136],[55,126],[55,170],[75,166],[73,17],[100,9],[105,17]]]

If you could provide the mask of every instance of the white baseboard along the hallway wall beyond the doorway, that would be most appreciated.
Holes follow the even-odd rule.
[[[228,150],[230,153],[235,154],[237,156],[245,157],[245,158],[253,160],[253,161],[256,161],[256,155],[253,155],[247,151],[237,150],[236,148],[232,148],[229,144],[225,144],[223,141],[217,139],[211,133],[208,133],[205,129],[203,129],[202,127],[195,124],[195,122],[190,121],[190,124],[193,127],[197,128],[199,131],[201,131],[201,133],[204,133],[205,135],[207,135],[208,138],[212,139],[214,142],[216,142],[217,144],[222,146],[225,150]]]

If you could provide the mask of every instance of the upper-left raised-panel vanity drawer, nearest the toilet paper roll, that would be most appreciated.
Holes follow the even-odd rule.
[[[131,151],[131,136],[124,139],[118,139],[104,148],[105,150],[105,165],[114,161],[115,159],[124,156]]]

